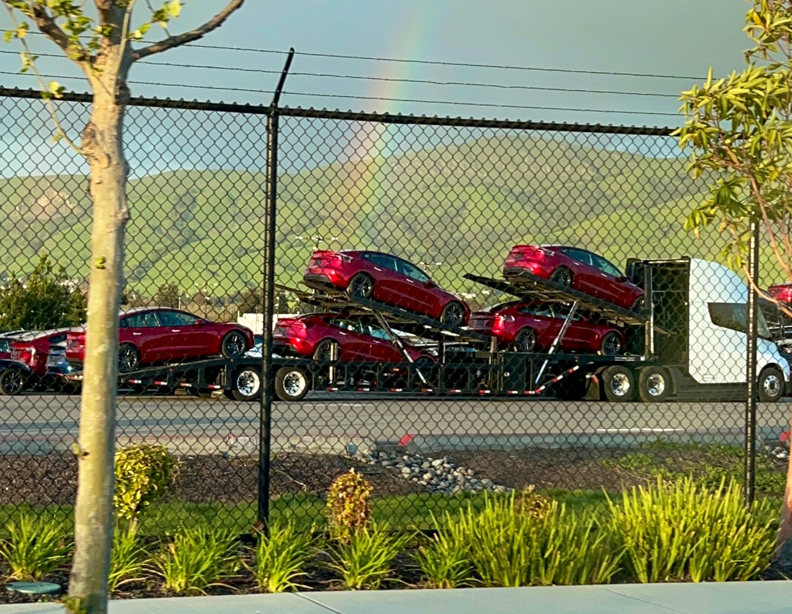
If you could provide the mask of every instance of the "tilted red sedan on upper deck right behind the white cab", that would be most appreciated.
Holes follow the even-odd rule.
[[[503,274],[508,279],[524,271],[624,309],[638,311],[643,305],[643,290],[619,267],[579,247],[516,245],[506,257]]]

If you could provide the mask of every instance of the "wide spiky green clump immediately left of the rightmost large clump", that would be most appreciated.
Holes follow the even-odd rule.
[[[516,507],[514,494],[488,497],[480,513],[468,509],[453,522],[486,586],[601,584],[619,570],[620,552],[592,513],[568,512],[557,501],[535,515]]]

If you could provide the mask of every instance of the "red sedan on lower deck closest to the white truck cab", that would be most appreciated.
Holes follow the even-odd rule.
[[[492,335],[501,347],[515,352],[535,352],[552,345],[567,313],[569,311],[563,312],[550,303],[515,301],[476,311],[470,316],[470,329]],[[615,356],[623,352],[624,334],[615,326],[598,324],[575,315],[559,347]]]

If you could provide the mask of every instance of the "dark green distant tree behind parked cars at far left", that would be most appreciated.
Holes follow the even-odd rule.
[[[12,274],[0,290],[2,329],[47,330],[85,321],[85,295],[48,254],[41,254],[29,276]]]

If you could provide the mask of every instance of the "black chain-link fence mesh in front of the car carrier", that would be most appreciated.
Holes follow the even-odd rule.
[[[88,169],[51,143],[32,93],[4,94],[0,326],[46,332],[0,338],[12,361],[0,521],[67,518]],[[59,101],[70,134],[88,105]],[[684,231],[706,185],[667,130],[279,109],[262,377],[267,120],[232,105],[128,108],[117,438],[182,460],[148,530],[244,529],[259,505],[318,518],[352,467],[376,517],[422,527],[489,491],[534,485],[577,508],[657,475],[742,478],[747,288],[719,264],[716,231]],[[769,253],[761,272],[765,287],[782,280]],[[23,322],[33,283],[61,303]],[[788,421],[775,399],[790,380],[774,313],[760,317],[757,362],[768,442]],[[760,452],[757,496],[782,493],[778,462]]]

